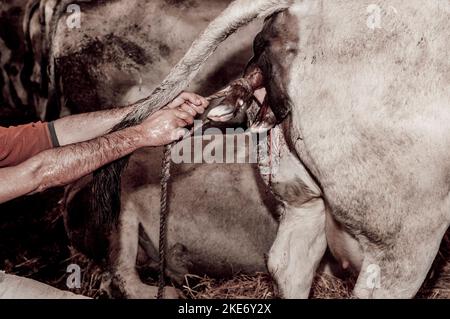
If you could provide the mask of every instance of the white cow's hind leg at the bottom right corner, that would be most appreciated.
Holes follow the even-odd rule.
[[[425,216],[425,214],[424,214]],[[366,243],[364,262],[354,289],[357,298],[413,298],[424,282],[448,224],[409,229],[389,247]]]

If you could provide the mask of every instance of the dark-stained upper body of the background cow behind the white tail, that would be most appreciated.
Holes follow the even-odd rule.
[[[81,6],[81,28],[60,19],[54,57],[71,112],[148,96],[230,1],[111,1]],[[251,57],[253,25],[214,55],[189,88],[209,94],[240,75]]]

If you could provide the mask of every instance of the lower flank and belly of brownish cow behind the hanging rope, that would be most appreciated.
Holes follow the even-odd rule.
[[[217,137],[208,145],[221,143],[222,137]],[[124,176],[122,195],[124,218],[127,208],[133,210],[154,247],[159,232],[159,167],[158,151],[137,152]],[[278,225],[270,210],[275,202],[261,191],[255,169],[250,164],[172,168],[168,248],[177,244],[185,248],[189,273],[225,277],[266,271],[264,256]]]

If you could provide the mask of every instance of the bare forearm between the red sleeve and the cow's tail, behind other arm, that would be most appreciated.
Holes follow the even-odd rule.
[[[105,135],[118,124],[133,107],[116,108],[72,115],[55,121],[55,132],[61,146],[89,141]]]

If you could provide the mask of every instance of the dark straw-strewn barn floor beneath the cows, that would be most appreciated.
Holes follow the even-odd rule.
[[[69,245],[58,208],[62,190],[32,196],[0,206],[0,269],[66,289],[67,266],[82,269],[82,287],[75,292],[106,298],[100,284],[102,269]],[[152,282],[155,274],[143,274]],[[349,298],[354,278],[319,275],[312,298]],[[265,274],[238,275],[229,280],[190,276],[181,288],[186,298],[276,298]],[[418,298],[450,299],[450,233],[447,234],[429,279]]]

